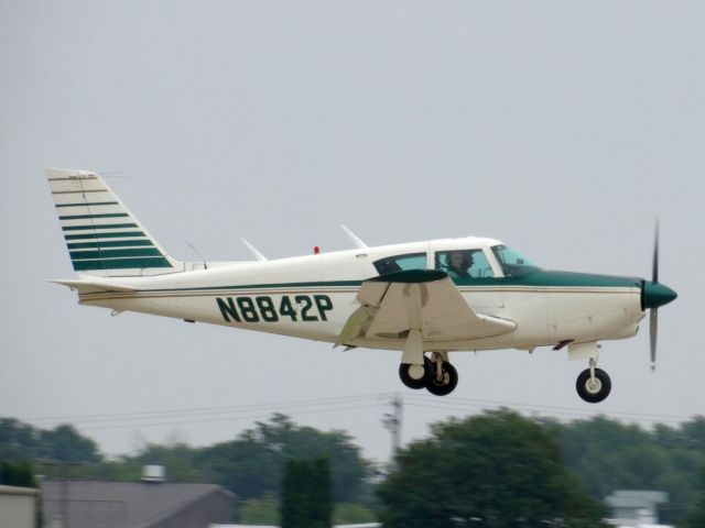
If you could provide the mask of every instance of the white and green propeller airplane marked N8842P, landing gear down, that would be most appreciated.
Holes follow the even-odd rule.
[[[135,311],[333,343],[401,351],[399,376],[412,389],[451,394],[451,352],[538,346],[587,360],[582,399],[611,391],[597,367],[600,341],[637,334],[650,310],[655,366],[659,307],[676,293],[659,283],[657,223],[651,280],[547,271],[488,238],[368,246],[268,260],[181,262],[89,170],[47,168],[76,276],[52,280],[80,305]]]

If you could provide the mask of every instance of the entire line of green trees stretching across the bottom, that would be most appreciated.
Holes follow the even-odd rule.
[[[447,522],[457,519],[505,526],[501,522],[510,521],[498,510],[503,505],[524,512],[507,526],[534,526],[530,512],[538,512],[542,522],[556,524],[561,520],[549,519],[549,513],[568,510],[577,517],[564,526],[589,526],[589,519],[605,515],[600,504],[615,490],[666,492],[669,503],[660,510],[664,522],[686,526],[688,515],[705,512],[702,417],[644,429],[605,417],[558,422],[489,411],[435,425],[427,439],[401,450],[384,477],[347,432],[318,431],[279,414],[227,442],[205,448],[148,444],[115,461],[106,460],[93,440],[69,425],[43,430],[0,419],[0,461],[29,461],[48,476],[63,472],[72,479],[132,482],[139,480],[142,465],[161,464],[171,482],[229,488],[241,502],[241,513],[270,524],[279,515],[288,461],[305,459],[329,461],[332,499],[336,512],[346,513],[338,521],[367,521],[375,510],[384,526],[415,526],[393,512],[417,508],[412,518],[433,513],[433,519],[446,519],[437,526],[452,526]],[[42,465],[46,460],[72,465]],[[518,493],[522,486],[531,493]],[[512,496],[521,501],[514,504]],[[542,503],[552,496],[553,503]],[[403,504],[395,497],[404,497]],[[443,506],[442,512],[436,506]]]

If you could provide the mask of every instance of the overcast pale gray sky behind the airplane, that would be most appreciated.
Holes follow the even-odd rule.
[[[117,454],[224,441],[281,410],[383,460],[392,392],[404,441],[496,403],[705,413],[703,2],[0,0],[0,416],[82,417]],[[185,241],[249,260],[240,237],[270,257],[341,250],[345,223],[369,244],[476,234],[549,268],[649,276],[659,215],[680,297],[655,373],[646,328],[604,343],[599,406],[575,393],[583,362],[550,349],[457,353],[440,400],[401,385],[398,352],[77,306],[46,282],[73,275],[47,166],[108,175],[183,260]]]

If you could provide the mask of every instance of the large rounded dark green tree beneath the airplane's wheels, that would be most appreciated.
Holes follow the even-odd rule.
[[[436,424],[381,484],[384,527],[600,526],[601,506],[539,424],[508,410]]]

